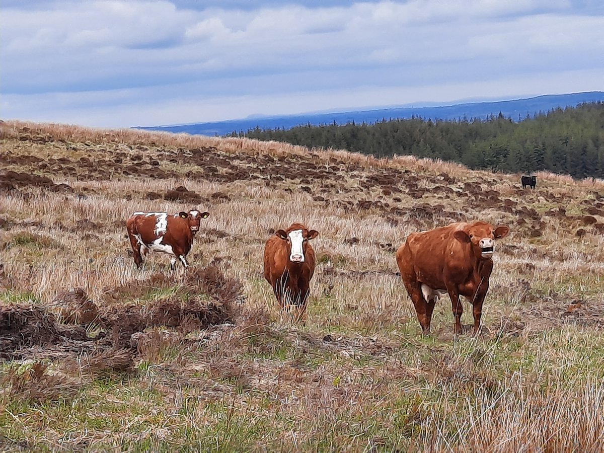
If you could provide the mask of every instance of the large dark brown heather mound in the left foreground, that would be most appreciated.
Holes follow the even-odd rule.
[[[162,291],[169,295],[153,299]],[[62,291],[54,298],[53,307],[59,307],[63,322],[79,325],[60,324],[46,307],[0,308],[0,359],[22,358],[30,352],[40,357],[86,350],[95,358],[92,368],[101,369],[105,364],[121,370],[140,349],[137,334],[159,326],[188,332],[223,324],[233,320],[241,300],[242,284],[226,278],[216,266],[190,268],[184,277],[155,274],[133,281],[106,291],[99,305],[81,288]],[[83,328],[91,323],[102,329],[95,338],[89,338]]]

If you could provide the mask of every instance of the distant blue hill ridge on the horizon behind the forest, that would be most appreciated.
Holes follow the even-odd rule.
[[[429,107],[398,107],[376,110],[336,112],[336,113],[309,113],[299,115],[285,115],[280,117],[254,117],[240,120],[214,121],[211,123],[180,124],[175,126],[135,126],[137,129],[162,130],[166,132],[186,132],[193,135],[226,135],[231,132],[246,132],[248,129],[289,129],[300,124],[347,124],[376,123],[382,120],[396,118],[421,117],[426,120],[461,120],[463,118],[481,118],[489,115],[498,115],[500,112],[513,121],[533,117],[539,112],[547,112],[558,107],[574,107],[584,102],[604,101],[603,91],[590,91],[571,94],[548,94],[525,99],[505,101],[473,102],[454,104],[448,106]]]

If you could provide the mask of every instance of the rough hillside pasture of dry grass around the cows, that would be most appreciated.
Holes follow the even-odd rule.
[[[0,124],[0,448],[601,451],[604,184],[281,143]],[[191,268],[135,268],[134,211],[197,207]],[[413,232],[510,227],[483,331],[422,336]],[[307,322],[263,246],[319,231]],[[464,301],[463,324],[472,324]]]

